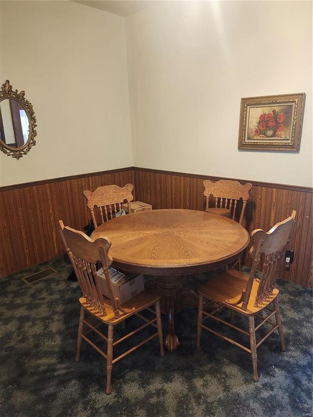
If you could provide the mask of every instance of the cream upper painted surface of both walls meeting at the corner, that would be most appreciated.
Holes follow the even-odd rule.
[[[169,1],[125,20],[0,1],[6,79],[38,134],[19,161],[0,153],[0,186],[133,165],[312,186],[311,1]],[[299,92],[298,153],[237,149],[242,97]]]

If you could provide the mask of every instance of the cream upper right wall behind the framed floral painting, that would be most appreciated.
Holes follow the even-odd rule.
[[[134,166],[312,186],[312,1],[169,1],[126,18]],[[239,151],[243,97],[306,93],[300,151]]]

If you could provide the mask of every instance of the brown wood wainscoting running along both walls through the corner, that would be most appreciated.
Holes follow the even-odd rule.
[[[153,209],[204,210],[203,180],[231,179],[193,174],[125,168],[102,173],[56,178],[0,188],[0,276],[33,267],[65,253],[59,219],[83,230],[88,223],[84,190],[101,185],[134,184],[134,200],[152,204]],[[276,222],[297,211],[296,229],[290,249],[294,261],[283,268],[281,278],[313,286],[313,190],[255,182],[246,206],[243,225],[251,232],[269,230]],[[250,266],[247,250],[244,264]]]

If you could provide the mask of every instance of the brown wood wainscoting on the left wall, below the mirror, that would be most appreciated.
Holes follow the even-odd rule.
[[[59,220],[88,224],[84,190],[134,184],[133,169],[58,178],[0,188],[0,277],[65,253]]]

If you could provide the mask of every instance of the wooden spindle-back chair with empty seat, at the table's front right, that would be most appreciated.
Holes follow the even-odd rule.
[[[256,229],[251,233],[252,246],[249,255],[253,259],[253,263],[249,275],[232,269],[212,278],[198,288],[197,347],[200,347],[201,329],[205,329],[249,352],[252,358],[253,381],[255,382],[259,380],[257,348],[274,330],[278,330],[281,350],[286,351],[278,306],[279,291],[275,288],[275,283],[280,268],[285,262],[286,249],[296,223],[294,221],[295,214],[296,212],[293,211],[291,217],[275,224],[268,232]],[[255,278],[260,258],[264,259],[261,278]],[[210,304],[212,308],[210,308]],[[223,309],[223,307],[225,308]],[[231,315],[229,319],[229,314],[227,314],[229,309],[241,317],[247,317],[248,328],[242,325],[242,320],[239,320],[240,323],[235,323]],[[236,314],[235,317],[238,318],[238,315]],[[255,323],[255,319],[257,323]],[[213,326],[214,322],[219,324]],[[257,341],[256,331],[263,325],[268,325],[269,329],[262,328],[261,336],[258,333],[259,340]],[[246,346],[247,343],[243,345],[240,338],[235,340],[233,330],[228,333],[223,331],[224,326],[248,336],[249,347]],[[224,327],[225,329],[227,327]]]

